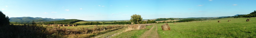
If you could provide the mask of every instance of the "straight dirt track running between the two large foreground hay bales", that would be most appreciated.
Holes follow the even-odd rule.
[[[156,27],[156,28],[155,28]],[[145,31],[140,38],[159,38],[157,33],[157,26],[154,25],[150,30]]]

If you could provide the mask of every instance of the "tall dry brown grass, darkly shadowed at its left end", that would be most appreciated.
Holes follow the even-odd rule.
[[[89,38],[123,27],[124,25],[109,25],[94,28],[67,29],[60,28],[57,25],[5,25],[0,27],[0,38]]]

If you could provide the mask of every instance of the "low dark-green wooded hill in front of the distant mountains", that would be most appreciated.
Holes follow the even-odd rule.
[[[79,21],[84,21],[84,20],[79,20],[79,19],[66,19],[66,20],[59,20],[59,21],[49,21],[49,22],[43,22],[44,24],[73,24]]]

